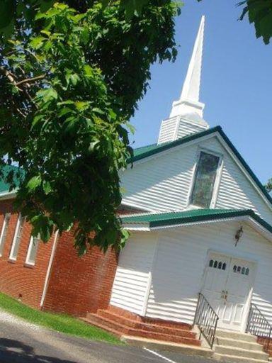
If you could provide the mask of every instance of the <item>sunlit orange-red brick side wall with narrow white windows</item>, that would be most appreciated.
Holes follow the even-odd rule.
[[[31,227],[28,223],[25,223],[23,225],[23,235],[18,250],[18,257],[15,262],[9,261],[8,257],[11,251],[18,213],[13,212],[11,201],[1,201],[0,231],[4,221],[4,213],[7,212],[12,214],[8,223],[3,256],[0,257],[0,291],[14,298],[21,298],[23,303],[27,303],[34,308],[39,308],[52,241],[50,240],[47,244],[40,243],[35,266],[26,265]]]

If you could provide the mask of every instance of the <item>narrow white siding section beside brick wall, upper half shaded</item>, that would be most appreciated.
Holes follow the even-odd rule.
[[[142,315],[157,233],[136,233],[120,252],[111,294],[111,305]]]

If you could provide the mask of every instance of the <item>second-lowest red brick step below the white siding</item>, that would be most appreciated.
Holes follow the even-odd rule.
[[[97,315],[101,316],[101,318],[106,318],[106,319],[114,321],[118,324],[125,325],[129,328],[147,330],[149,332],[154,332],[154,333],[171,334],[171,335],[181,336],[181,337],[191,337],[191,338],[196,337],[196,333],[193,333],[190,330],[190,326],[185,325],[185,324],[184,325],[174,325],[174,326],[179,326],[179,328],[170,328],[169,326],[147,324],[147,323],[142,323],[137,320],[124,318],[123,316],[113,314],[106,310],[99,310],[97,312]],[[89,315],[87,314],[87,318],[88,317],[89,317]]]

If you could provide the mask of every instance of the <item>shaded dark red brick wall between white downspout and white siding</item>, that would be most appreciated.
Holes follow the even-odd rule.
[[[108,306],[118,256],[93,247],[78,257],[73,240],[72,233],[63,233],[57,242],[44,309],[83,316]]]

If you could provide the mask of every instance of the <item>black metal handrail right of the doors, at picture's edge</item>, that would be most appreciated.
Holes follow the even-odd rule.
[[[251,303],[249,308],[246,333],[263,338],[263,349],[268,352],[269,345],[271,344],[272,325],[254,303]]]

